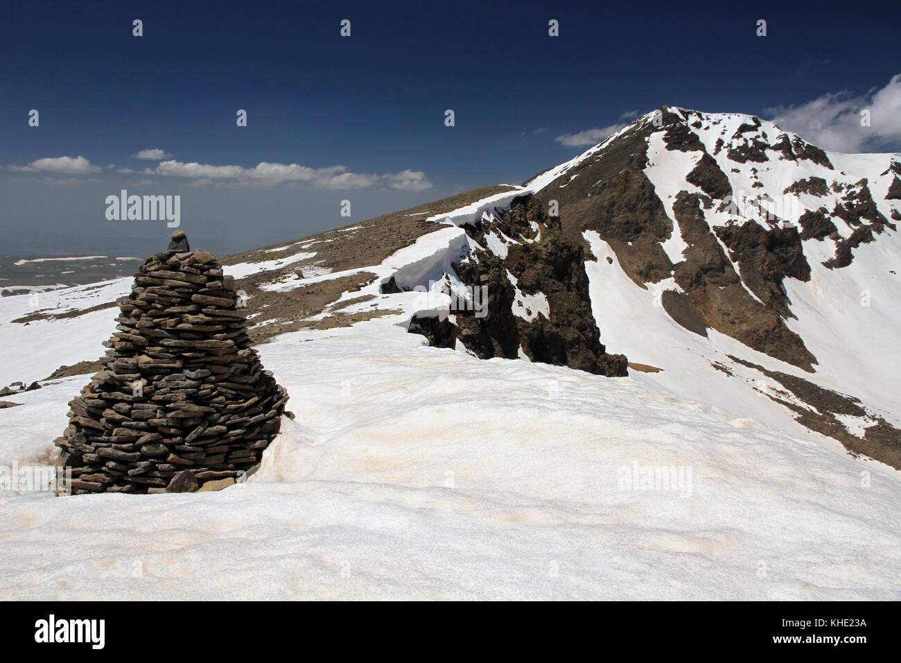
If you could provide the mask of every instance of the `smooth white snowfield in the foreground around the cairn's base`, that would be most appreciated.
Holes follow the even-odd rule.
[[[297,419],[249,483],[6,497],[0,597],[901,598],[894,470],[401,318],[259,346]],[[46,448],[32,415],[80,382],[0,411],[0,459]]]

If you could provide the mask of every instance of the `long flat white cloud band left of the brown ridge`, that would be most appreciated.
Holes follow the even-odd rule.
[[[195,179],[194,186],[209,186],[215,180],[240,180],[247,184],[265,182],[305,182],[323,189],[364,189],[381,184],[388,189],[423,191],[432,188],[432,182],[419,170],[401,170],[396,174],[368,175],[350,172],[347,166],[310,168],[296,163],[269,163],[261,161],[253,168],[242,166],[214,166],[196,161],[162,161],[156,168],[144,170],[148,175],[185,177]],[[245,184],[246,186],[246,184]]]

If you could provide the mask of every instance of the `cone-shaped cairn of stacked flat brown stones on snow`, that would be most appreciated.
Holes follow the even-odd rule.
[[[287,392],[250,347],[232,278],[182,231],[134,277],[117,302],[105,369],[69,402],[56,440],[72,493],[185,493],[240,480],[278,433]]]

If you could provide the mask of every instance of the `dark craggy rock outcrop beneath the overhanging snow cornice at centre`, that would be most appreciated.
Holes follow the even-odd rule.
[[[588,373],[627,374],[625,356],[607,354],[600,342],[584,250],[562,235],[559,219],[547,216],[534,198],[522,197],[491,220],[463,227],[479,246],[504,246],[476,250],[454,265],[470,289],[487,289],[486,315],[454,308],[453,321],[414,318],[411,331],[427,336],[431,345],[460,342],[483,359],[524,355]]]

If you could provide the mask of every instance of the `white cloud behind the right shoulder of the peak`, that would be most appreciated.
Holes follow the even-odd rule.
[[[870,125],[861,126],[861,110]],[[805,141],[836,152],[901,149],[901,74],[886,87],[854,96],[847,90],[817,97],[800,106],[766,108],[773,122]]]

